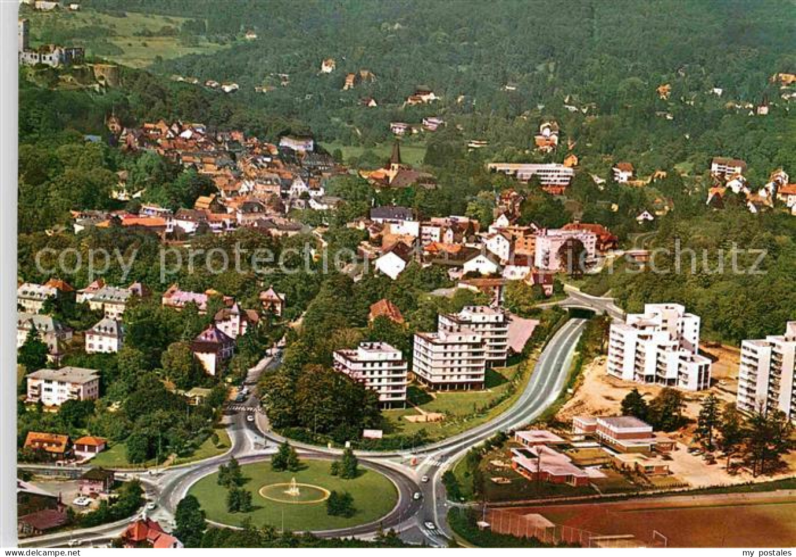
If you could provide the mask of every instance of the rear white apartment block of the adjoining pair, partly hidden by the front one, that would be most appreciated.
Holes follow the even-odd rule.
[[[441,314],[444,333],[475,333],[482,337],[488,366],[505,364],[509,352],[509,319],[503,310],[489,306],[465,306],[458,314]]]

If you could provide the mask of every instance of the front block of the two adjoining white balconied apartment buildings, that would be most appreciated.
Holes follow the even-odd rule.
[[[484,339],[475,333],[417,333],[412,371],[441,391],[481,389],[486,375]]]

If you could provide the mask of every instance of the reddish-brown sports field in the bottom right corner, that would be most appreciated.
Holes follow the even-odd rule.
[[[554,524],[601,536],[632,535],[652,545],[653,531],[669,547],[790,547],[796,539],[796,497],[734,494],[661,497],[602,504],[513,508],[540,513]],[[687,527],[685,525],[687,524]]]

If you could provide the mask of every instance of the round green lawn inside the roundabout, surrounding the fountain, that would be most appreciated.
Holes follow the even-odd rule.
[[[244,489],[252,493],[252,504],[255,507],[252,512],[227,512],[226,489],[217,484],[217,473],[197,481],[189,493],[197,497],[209,520],[230,525],[240,525],[244,520],[252,520],[252,524],[256,526],[270,524],[275,528],[293,531],[330,530],[369,523],[386,515],[396,505],[398,493],[395,485],[373,470],[361,468],[359,477],[342,480],[330,475],[330,461],[305,460],[302,465],[303,469],[298,472],[274,472],[271,470],[271,462],[243,465],[244,477],[247,478]],[[329,516],[326,514],[325,502],[281,503],[259,494],[259,489],[264,485],[288,484],[293,477],[298,484],[318,485],[329,491],[350,493],[354,508],[357,509],[356,514],[351,518]]]

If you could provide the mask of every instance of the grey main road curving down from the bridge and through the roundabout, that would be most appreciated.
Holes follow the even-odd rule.
[[[380,529],[394,528],[402,538],[411,542],[423,542],[435,547],[447,545],[453,534],[447,526],[450,503],[442,483],[443,473],[473,446],[498,431],[522,427],[536,419],[558,398],[564,388],[577,341],[585,324],[583,319],[570,319],[553,335],[540,353],[530,380],[517,401],[509,410],[489,422],[412,450],[357,451],[357,458],[363,466],[383,473],[396,485],[399,494],[396,508],[371,524],[314,533],[324,537],[369,537]],[[256,382],[261,372],[278,365],[278,355],[263,358],[252,368],[248,382]],[[218,465],[232,456],[245,463],[263,461],[275,453],[275,447],[283,441],[283,437],[268,427],[267,419],[259,412],[256,392],[250,393],[248,399],[236,407],[238,411],[234,415],[224,418],[229,424],[232,441],[232,448],[226,454],[164,470],[128,474],[129,477],[139,477],[146,488],[148,499],[154,503],[155,508],[149,511],[150,516],[171,524],[178,502],[185,497],[191,485],[201,477],[213,473]],[[255,415],[256,419],[250,421],[250,415]],[[341,453],[339,449],[299,442],[291,444],[305,458],[334,458]],[[64,532],[60,535],[39,536],[26,540],[21,545],[53,547],[75,539],[82,544],[88,540],[118,536],[124,526],[125,524],[119,523],[84,531]]]

